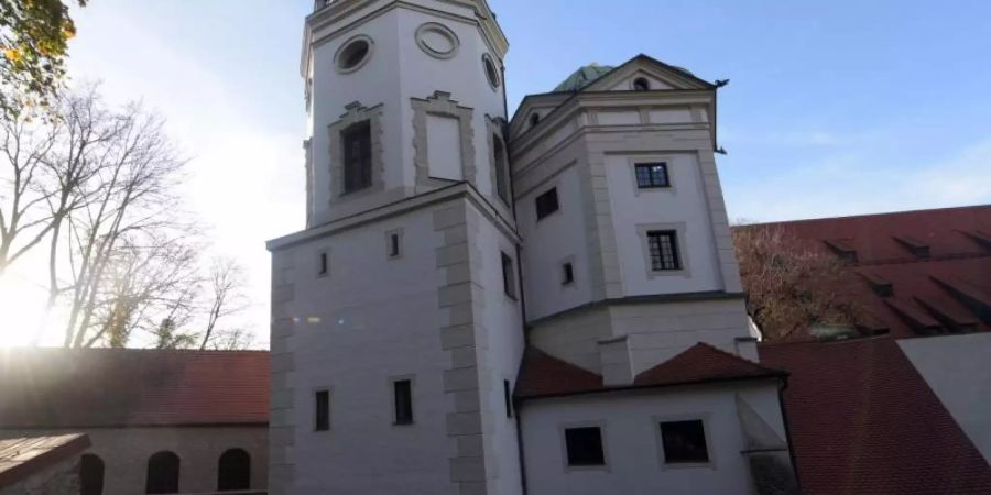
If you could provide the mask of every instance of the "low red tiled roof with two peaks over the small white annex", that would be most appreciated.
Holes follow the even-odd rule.
[[[526,349],[523,356],[515,396],[521,399],[556,397],[613,389],[650,388],[784,375],[784,372],[761,366],[700,342],[640,373],[631,385],[609,387],[602,384],[600,375],[531,346]]]

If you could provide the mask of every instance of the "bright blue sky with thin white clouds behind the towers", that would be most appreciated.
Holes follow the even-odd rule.
[[[490,0],[512,112],[577,67],[644,53],[719,90],[731,219],[991,202],[991,2]],[[608,6],[608,7],[606,7]],[[250,275],[268,342],[268,239],[304,227],[303,18],[312,0],[94,0],[74,81],[167,119],[189,208]],[[319,98],[317,95],[316,98]]]

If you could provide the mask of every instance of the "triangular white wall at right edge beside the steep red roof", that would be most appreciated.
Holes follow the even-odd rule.
[[[904,339],[899,345],[991,463],[991,333]]]

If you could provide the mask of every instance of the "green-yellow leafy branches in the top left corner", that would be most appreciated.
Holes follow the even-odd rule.
[[[85,7],[87,0],[76,0]],[[65,76],[76,34],[62,0],[0,0],[0,109],[47,107]]]

